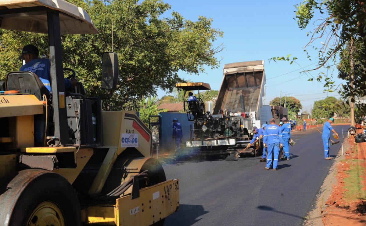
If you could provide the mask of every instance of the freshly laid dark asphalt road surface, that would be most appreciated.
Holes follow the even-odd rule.
[[[340,141],[341,127],[347,132],[349,126],[334,126]],[[165,225],[301,225],[334,160],[324,159],[315,129],[295,132],[292,139],[291,159],[280,160],[277,171],[265,170],[259,157],[163,164],[167,179],[179,179],[180,193],[180,209]],[[330,156],[340,147],[331,145]]]

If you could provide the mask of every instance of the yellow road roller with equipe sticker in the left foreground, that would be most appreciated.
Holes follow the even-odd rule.
[[[96,34],[63,0],[2,0],[0,28],[48,34],[51,92],[31,71],[0,86],[0,225],[161,225],[179,210],[179,181],[153,157],[134,111],[102,111],[79,82],[65,88],[61,35]],[[101,56],[103,89],[116,88],[117,54]],[[49,85],[49,84],[48,84]]]

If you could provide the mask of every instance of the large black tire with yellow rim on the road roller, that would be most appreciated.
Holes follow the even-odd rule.
[[[22,170],[0,181],[0,225],[81,225],[74,188],[61,175]]]

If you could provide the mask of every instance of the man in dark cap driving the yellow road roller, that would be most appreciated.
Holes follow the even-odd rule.
[[[40,78],[43,85],[51,92],[51,69],[49,59],[38,58],[39,51],[34,45],[26,45],[23,47],[22,54],[19,59],[23,59],[25,64],[20,67],[19,71],[31,71]],[[71,85],[76,85],[77,80],[74,78],[69,80],[65,78],[65,88],[70,88]]]

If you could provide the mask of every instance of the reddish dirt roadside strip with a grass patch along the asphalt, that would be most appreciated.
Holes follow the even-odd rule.
[[[362,130],[358,130],[361,133]],[[345,138],[305,225],[366,225],[366,142]]]

